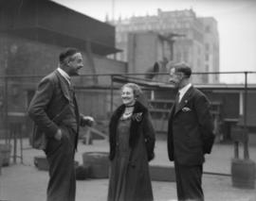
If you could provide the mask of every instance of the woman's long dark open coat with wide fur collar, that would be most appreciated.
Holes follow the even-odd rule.
[[[116,109],[110,120],[110,160],[113,160],[116,155],[116,131],[119,118],[123,114],[124,109],[125,106],[121,105]],[[153,195],[148,162],[154,159],[155,131],[148,109],[139,102],[136,102],[132,115],[129,145],[131,147],[131,154],[126,179],[127,194],[129,194],[130,199],[133,201],[151,200]]]

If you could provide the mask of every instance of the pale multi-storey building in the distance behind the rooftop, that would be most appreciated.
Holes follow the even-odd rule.
[[[198,18],[192,9],[174,11],[158,9],[157,15],[131,17],[128,19],[119,18],[112,24],[116,25],[116,46],[123,50],[117,54],[117,59],[128,61],[129,68],[130,64],[133,65],[131,59],[136,60],[131,58],[131,55],[137,57],[137,54],[131,52],[133,49],[129,47],[131,46],[130,42],[135,42],[128,40],[131,40],[129,34],[151,32],[157,34],[158,41],[161,44],[161,46],[158,44],[150,46],[150,49],[154,49],[157,55],[155,55],[155,59],[167,59],[174,62],[184,60],[192,65],[193,72],[219,71],[218,28],[216,20],[212,17]],[[146,45],[145,48],[148,50],[149,45]],[[162,58],[159,58],[159,56]],[[141,62],[143,60],[140,61],[140,64]],[[145,61],[145,64],[148,63]],[[129,72],[136,71],[141,73],[139,68],[139,66],[132,66],[133,70],[129,69]],[[196,82],[199,83],[219,82],[219,75],[195,76]]]

